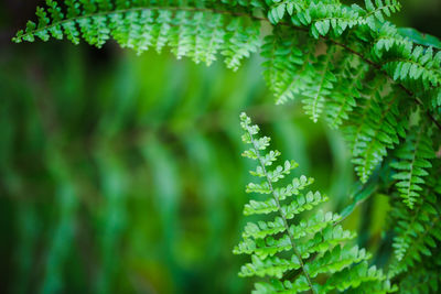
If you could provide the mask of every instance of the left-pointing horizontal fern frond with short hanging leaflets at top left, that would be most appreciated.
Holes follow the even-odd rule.
[[[220,53],[234,69],[259,47],[260,23],[249,13],[235,17],[224,12],[226,7],[237,4],[234,1],[229,6],[206,1],[203,7],[183,7],[180,1],[69,0],[65,1],[66,13],[56,1],[47,0],[46,4],[47,9],[37,8],[37,23],[30,21],[25,31],[18,32],[14,42],[65,36],[74,44],[83,39],[101,47],[114,39],[121,47],[138,53],[150,47],[161,52],[170,46],[178,58],[190,56],[207,65]]]

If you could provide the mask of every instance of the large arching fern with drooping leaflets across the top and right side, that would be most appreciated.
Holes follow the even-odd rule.
[[[390,196],[395,257],[388,277],[405,288],[417,271],[423,277],[440,270],[424,262],[441,239],[440,43],[386,21],[400,9],[396,0],[366,0],[365,8],[336,0],[46,3],[14,42],[53,36],[100,47],[111,37],[138,53],[170,47],[178,58],[208,65],[219,53],[233,69],[260,48],[276,102],[299,99],[313,121],[340,128],[362,190],[374,186]]]

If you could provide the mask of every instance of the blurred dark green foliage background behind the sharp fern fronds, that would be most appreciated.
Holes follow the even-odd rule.
[[[0,293],[247,293],[232,254],[251,164],[241,111],[327,208],[352,203],[342,135],[276,107],[258,54],[233,73],[111,42],[12,44],[42,3],[0,2]],[[441,35],[441,1],[401,3],[399,25]],[[344,226],[385,250],[386,215],[377,195]]]

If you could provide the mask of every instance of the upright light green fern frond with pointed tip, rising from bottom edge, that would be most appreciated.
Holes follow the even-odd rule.
[[[248,222],[243,241],[234,249],[234,253],[251,258],[250,263],[241,266],[240,276],[271,279],[256,283],[254,293],[394,291],[381,270],[368,265],[370,254],[351,244],[355,233],[336,224],[338,215],[319,210],[308,220],[295,221],[299,214],[314,209],[327,197],[308,190],[313,179],[305,176],[279,187],[278,182],[289,176],[297,164],[286,161],[271,168],[280,152],[267,152],[270,139],[259,137],[259,128],[245,113],[240,115],[240,121],[243,141],[250,145],[243,155],[257,161],[251,174],[259,179],[247,185],[247,193],[265,196],[261,200],[250,200],[244,214],[269,215],[257,224]],[[289,277],[292,271],[297,274]],[[319,275],[331,277],[321,283]]]

